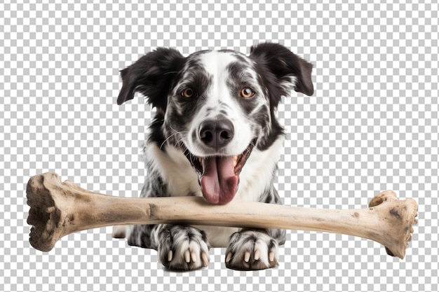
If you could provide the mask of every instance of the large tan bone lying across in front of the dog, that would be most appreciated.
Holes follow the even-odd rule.
[[[214,205],[203,197],[114,197],[84,190],[57,174],[27,183],[29,242],[50,251],[72,232],[110,225],[178,223],[336,232],[372,239],[404,258],[417,223],[417,203],[386,190],[365,209],[313,209],[234,200]]]

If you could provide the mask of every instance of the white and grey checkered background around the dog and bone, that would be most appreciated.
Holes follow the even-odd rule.
[[[0,291],[438,291],[437,1],[30,2],[0,4]],[[404,260],[366,239],[302,231],[288,232],[278,268],[259,272],[227,270],[224,249],[207,269],[168,272],[111,228],[48,253],[29,246],[34,174],[139,193],[151,109],[142,97],[116,105],[119,69],[158,46],[248,53],[261,41],[314,64],[314,95],[279,108],[285,204],[362,208],[386,189],[414,197]]]

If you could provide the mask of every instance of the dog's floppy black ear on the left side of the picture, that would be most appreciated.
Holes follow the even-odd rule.
[[[123,84],[117,104],[133,99],[135,92],[140,92],[147,97],[149,104],[164,111],[168,90],[174,76],[182,69],[184,60],[177,50],[157,48],[121,70]]]

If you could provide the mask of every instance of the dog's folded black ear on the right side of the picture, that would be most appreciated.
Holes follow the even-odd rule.
[[[313,95],[311,71],[313,65],[292,53],[278,43],[260,43],[250,50],[250,58],[255,60],[264,71],[269,71],[276,78],[274,83],[281,85],[282,95],[289,95],[294,88],[305,95]],[[295,83],[292,83],[292,76]]]

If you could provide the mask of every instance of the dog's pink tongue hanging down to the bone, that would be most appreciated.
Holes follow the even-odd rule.
[[[230,202],[238,190],[239,177],[234,172],[234,158],[214,157],[203,159],[201,190],[212,204]]]

